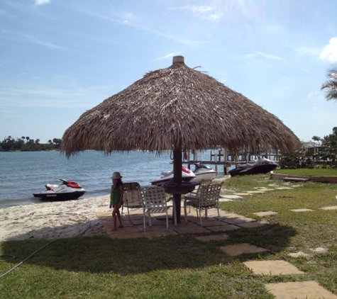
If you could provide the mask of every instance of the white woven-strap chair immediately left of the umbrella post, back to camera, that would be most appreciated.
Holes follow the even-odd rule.
[[[152,226],[151,214],[166,213],[166,229],[168,230],[168,215],[169,210],[173,205],[167,205],[165,190],[162,186],[149,186],[139,189],[140,197],[143,204],[143,220],[144,232],[146,231],[145,215],[148,215],[149,225]],[[173,211],[175,223],[177,223],[175,210]]]

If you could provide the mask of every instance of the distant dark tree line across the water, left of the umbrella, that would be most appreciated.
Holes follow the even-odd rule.
[[[21,138],[12,138],[11,136],[5,137],[2,142],[0,142],[1,152],[34,152],[43,150],[60,150],[61,140],[54,138],[48,140],[48,143],[40,143],[40,139],[33,140],[30,137],[22,136]]]

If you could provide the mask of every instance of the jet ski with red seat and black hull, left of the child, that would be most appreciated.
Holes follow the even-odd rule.
[[[45,184],[45,191],[33,193],[34,197],[48,201],[69,201],[81,197],[86,191],[75,181],[60,179],[62,184]]]

